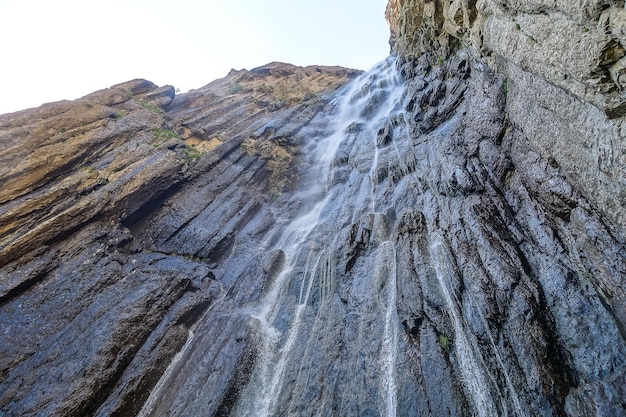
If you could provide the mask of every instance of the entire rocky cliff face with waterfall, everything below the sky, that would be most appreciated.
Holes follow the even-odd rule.
[[[573,3],[0,116],[0,413],[624,415],[626,9]]]

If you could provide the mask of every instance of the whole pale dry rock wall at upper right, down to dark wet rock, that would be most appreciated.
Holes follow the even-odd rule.
[[[391,0],[386,17],[404,59],[466,49],[504,77],[512,122],[625,227],[626,9],[574,3]]]

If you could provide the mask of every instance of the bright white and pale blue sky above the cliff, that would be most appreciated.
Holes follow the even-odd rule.
[[[387,0],[0,0],[0,114],[134,78],[181,92],[269,62],[367,70]]]

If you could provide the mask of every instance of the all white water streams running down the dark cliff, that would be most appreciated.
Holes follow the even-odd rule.
[[[285,401],[285,395],[289,396],[294,385],[315,385],[316,382],[310,375],[316,372],[311,372],[311,369],[321,367],[322,364],[313,363],[302,366],[302,362],[310,360],[310,357],[302,354],[309,349],[308,345],[303,348],[300,344],[307,343],[311,327],[314,326],[312,320],[313,322],[317,320],[312,317],[319,315],[316,309],[330,308],[333,299],[337,300],[337,288],[342,285],[342,280],[345,278],[343,271],[339,270],[339,265],[337,265],[341,260],[338,260],[336,254],[333,253],[333,250],[336,251],[344,244],[340,240],[345,238],[340,234],[340,229],[361,224],[358,222],[372,218],[370,217],[372,215],[373,218],[376,216],[385,218],[384,215],[377,214],[377,210],[384,210],[388,205],[388,202],[378,201],[386,190],[377,189],[382,184],[379,176],[385,178],[385,175],[398,175],[402,178],[415,168],[408,165],[410,162],[405,162],[402,157],[407,153],[407,146],[413,146],[409,137],[408,124],[406,120],[403,120],[405,92],[404,84],[396,70],[396,63],[390,59],[348,85],[332,103],[335,111],[323,116],[326,119],[318,120],[326,134],[323,137],[309,138],[308,151],[305,155],[312,163],[313,185],[307,190],[301,190],[298,194],[298,198],[303,201],[302,206],[309,207],[309,209],[283,225],[278,236],[268,238],[263,247],[267,251],[281,250],[285,255],[285,266],[278,276],[268,283],[269,287],[258,304],[239,310],[239,313],[252,319],[251,324],[258,337],[255,340],[257,356],[250,380],[239,393],[230,415],[269,417],[284,413],[286,406],[282,402]],[[386,137],[382,138],[386,143],[378,143],[380,132],[384,133],[382,129],[391,130],[389,132],[391,143]],[[396,142],[397,138],[405,140]],[[385,149],[387,145],[391,147]],[[412,150],[408,152],[412,154]],[[426,162],[429,162],[430,156],[424,157],[427,158]],[[345,175],[341,177],[342,165],[346,164],[347,171],[354,174],[348,179]],[[388,169],[389,172],[381,171],[384,169]],[[340,181],[335,181],[334,175]],[[435,184],[431,183],[429,186],[435,189]],[[375,258],[371,264],[368,264],[368,267],[373,268],[371,272],[365,270],[366,272],[363,273],[364,269],[361,265],[361,273],[354,276],[354,281],[358,281],[357,290],[354,290],[354,283],[350,290],[354,291],[351,294],[358,299],[354,301],[357,307],[354,307],[350,314],[367,315],[369,320],[369,322],[359,321],[359,319],[352,321],[354,328],[364,325],[363,332],[367,334],[352,332],[351,337],[358,338],[359,343],[368,343],[369,345],[364,349],[375,353],[367,358],[354,360],[354,357],[358,357],[361,353],[360,345],[349,345],[350,340],[343,340],[339,343],[349,345],[344,346],[344,349],[353,350],[344,356],[347,360],[352,360],[350,362],[352,365],[366,367],[363,369],[366,372],[363,373],[367,376],[353,375],[353,372],[359,372],[353,369],[349,369],[347,374],[348,378],[354,378],[355,386],[375,391],[369,402],[375,404],[377,408],[365,409],[367,413],[396,417],[399,410],[398,389],[399,381],[401,381],[398,378],[397,363],[400,320],[397,310],[396,248],[393,241],[385,241],[389,237],[384,237],[384,232],[382,235],[380,233],[376,235],[378,232],[375,223],[376,220],[373,220],[371,226],[363,226],[371,227],[372,230],[368,229],[363,232],[372,234],[371,242],[352,242],[355,245],[370,245]],[[359,233],[361,233],[360,230]],[[498,407],[495,402],[495,400],[505,401],[505,398],[490,391],[489,387],[495,387],[498,384],[488,371],[484,363],[485,359],[478,347],[478,341],[468,331],[468,324],[463,318],[461,303],[452,284],[456,272],[452,267],[453,261],[449,249],[444,238],[437,233],[433,233],[430,238],[429,255],[454,330],[452,348],[458,363],[459,380],[463,384],[467,398],[476,410],[476,415],[495,416],[499,412],[506,415],[509,410],[506,404],[502,403],[501,407]],[[372,296],[378,298],[373,299]],[[347,303],[345,300],[342,302]],[[362,303],[362,306],[359,306],[359,303]],[[362,309],[359,310],[359,308]],[[488,331],[485,318],[481,316],[481,319]],[[506,388],[512,399],[513,413],[522,416],[520,401],[513,383],[500,358],[493,336],[490,333],[488,336],[498,364],[504,372]],[[316,337],[321,338],[324,335],[316,334]],[[153,390],[140,416],[150,415],[160,392],[170,380],[172,372],[175,372],[178,362],[189,350],[193,341],[193,333],[190,333],[183,350],[176,355]],[[325,348],[326,346],[322,349]],[[335,355],[334,360],[340,357],[339,352],[324,351],[324,353]],[[306,380],[304,384],[300,381],[303,371],[306,373],[306,376],[303,376]],[[325,370],[325,372],[330,371]],[[330,381],[334,381],[333,377],[337,378],[337,376],[332,372],[330,374],[330,377],[325,374],[324,378],[328,377]],[[341,373],[338,375],[345,377]],[[324,383],[327,381],[324,380]],[[350,401],[358,403],[358,394],[354,394],[352,389],[352,386],[348,384],[343,387],[320,388],[320,392],[336,390],[333,395],[341,396],[345,393],[355,395]],[[320,392],[315,394],[319,396],[318,398],[322,398]],[[494,398],[496,396],[498,398]],[[341,399],[330,401],[336,401],[331,404],[332,407],[341,403]],[[327,406],[328,404],[320,404],[320,410],[324,409],[324,412],[328,413],[329,409],[324,408]]]

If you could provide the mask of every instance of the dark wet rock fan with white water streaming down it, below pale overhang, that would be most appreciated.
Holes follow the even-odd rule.
[[[408,83],[393,65],[302,130],[340,120],[312,159],[341,138],[274,202],[301,209],[263,294],[222,310],[224,362],[198,343],[142,415],[623,415],[622,229],[511,122],[504,76],[467,52]]]

